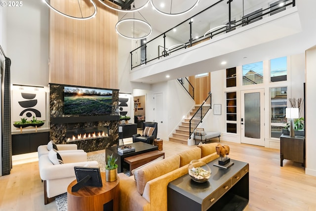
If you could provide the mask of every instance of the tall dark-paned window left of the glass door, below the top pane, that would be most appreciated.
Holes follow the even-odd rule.
[[[236,91],[226,93],[226,124],[227,132],[237,133],[237,99]]]

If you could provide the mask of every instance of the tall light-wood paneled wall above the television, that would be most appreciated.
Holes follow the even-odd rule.
[[[56,9],[81,16],[78,0],[50,0]],[[88,0],[79,0],[84,17],[93,14]],[[94,0],[97,15],[75,20],[50,10],[49,83],[118,89],[118,34],[115,10]]]

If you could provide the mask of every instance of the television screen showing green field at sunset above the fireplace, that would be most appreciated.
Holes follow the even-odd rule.
[[[65,115],[101,115],[112,113],[112,90],[64,87]]]

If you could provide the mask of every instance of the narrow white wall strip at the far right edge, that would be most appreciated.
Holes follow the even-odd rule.
[[[316,176],[316,46],[306,51],[306,174]]]

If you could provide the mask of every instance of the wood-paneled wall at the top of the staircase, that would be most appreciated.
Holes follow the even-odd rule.
[[[195,76],[189,77],[189,82],[194,87],[194,100],[196,104],[202,104],[208,93],[211,91],[211,77],[208,76],[195,78]],[[190,90],[191,91],[191,90]]]

